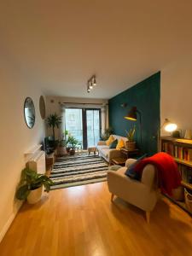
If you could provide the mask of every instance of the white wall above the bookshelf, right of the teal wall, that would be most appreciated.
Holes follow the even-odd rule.
[[[192,55],[161,70],[160,118],[175,122],[183,135],[192,129]]]

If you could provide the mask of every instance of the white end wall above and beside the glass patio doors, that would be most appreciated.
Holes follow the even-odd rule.
[[[74,103],[91,103],[91,104],[107,104],[108,100],[102,99],[90,99],[90,98],[73,98],[73,97],[59,97],[59,96],[47,96],[46,97],[46,115],[49,113],[57,113],[61,115],[61,105],[63,102],[74,102]],[[106,126],[108,127],[108,109],[106,116]],[[47,130],[47,135],[51,136],[52,131],[50,129]],[[55,137],[60,137],[60,131],[55,130]]]

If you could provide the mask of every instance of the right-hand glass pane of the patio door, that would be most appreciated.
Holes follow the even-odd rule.
[[[101,133],[100,109],[86,109],[86,128],[87,148],[96,146]]]

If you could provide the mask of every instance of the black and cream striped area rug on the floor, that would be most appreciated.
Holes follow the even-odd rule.
[[[55,160],[50,178],[53,189],[63,189],[107,180],[108,164],[98,155],[87,153]]]

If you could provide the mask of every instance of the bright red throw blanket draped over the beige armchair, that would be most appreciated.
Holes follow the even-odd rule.
[[[154,154],[151,157],[141,160],[135,166],[135,172],[139,172],[142,176],[143,168],[148,164],[154,165],[158,170],[158,182],[161,191],[172,195],[172,189],[177,189],[181,184],[181,175],[172,156],[163,152]]]

